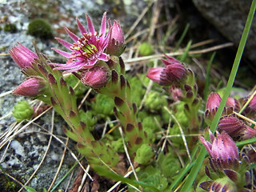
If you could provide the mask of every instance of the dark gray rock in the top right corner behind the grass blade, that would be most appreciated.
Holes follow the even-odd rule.
[[[230,42],[238,46],[246,18],[250,10],[250,0],[193,0],[194,6]],[[254,19],[244,54],[256,65],[256,21]]]

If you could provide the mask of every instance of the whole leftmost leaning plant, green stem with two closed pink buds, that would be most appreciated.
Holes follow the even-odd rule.
[[[38,98],[53,106],[70,126],[64,132],[78,142],[78,150],[86,156],[90,166],[105,164],[114,167],[119,160],[118,154],[103,141],[96,141],[90,134],[90,128],[81,121],[74,90],[66,85],[60,71],[53,70],[48,58],[39,54],[38,50],[35,54],[18,44],[10,50],[10,54],[27,76],[26,81],[14,89],[13,93]]]

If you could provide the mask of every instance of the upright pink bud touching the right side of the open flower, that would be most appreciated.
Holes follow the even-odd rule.
[[[109,25],[111,26],[110,22]],[[121,55],[125,50],[126,46],[123,45],[125,42],[122,28],[119,22],[114,20],[113,26],[110,27],[110,41],[106,47],[107,54]]]

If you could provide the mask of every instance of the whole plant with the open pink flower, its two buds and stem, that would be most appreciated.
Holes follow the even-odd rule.
[[[137,121],[137,107],[130,101],[130,85],[124,76],[125,65],[122,58],[118,58],[125,49],[121,26],[116,21],[111,26],[109,21],[110,29],[105,35],[105,13],[98,34],[88,15],[86,18],[88,32],[77,19],[82,38],[78,38],[65,28],[67,34],[74,40],[74,44],[57,38],[58,42],[72,51],[67,53],[54,49],[68,58],[68,62],[66,64],[51,63],[51,65],[55,66],[54,70],[65,70],[64,73],[73,72],[85,86],[114,99],[114,114],[122,123],[128,150],[131,158],[134,159],[136,151],[142,144],[148,144],[149,141],[142,129],[142,123]]]

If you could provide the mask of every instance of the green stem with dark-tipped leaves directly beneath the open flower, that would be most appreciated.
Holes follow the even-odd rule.
[[[142,129],[142,123],[137,120],[137,106],[131,102],[130,84],[124,76],[122,58],[111,56],[107,64],[111,70],[110,80],[98,92],[114,99],[114,114],[122,123],[130,156],[134,158],[138,148],[144,143],[149,143],[149,140]]]

